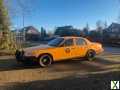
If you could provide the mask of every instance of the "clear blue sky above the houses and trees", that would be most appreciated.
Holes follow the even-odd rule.
[[[82,29],[89,24],[91,29],[96,27],[96,22],[101,20],[111,24],[117,21],[120,10],[118,0],[18,0],[11,2],[18,11],[11,17],[13,27],[23,27],[22,11],[26,12],[25,26],[32,25],[40,30],[54,30],[57,26],[73,25]],[[13,9],[13,11],[15,11]]]

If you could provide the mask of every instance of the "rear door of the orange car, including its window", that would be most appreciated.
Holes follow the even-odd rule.
[[[88,50],[87,41],[84,38],[76,38],[76,56],[84,57]]]

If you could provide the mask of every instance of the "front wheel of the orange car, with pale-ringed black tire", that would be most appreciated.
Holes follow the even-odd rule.
[[[52,57],[50,55],[44,54],[38,58],[38,63],[41,67],[47,67],[52,64]]]

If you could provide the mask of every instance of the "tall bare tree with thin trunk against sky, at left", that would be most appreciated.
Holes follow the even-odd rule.
[[[25,27],[25,18],[29,17],[30,13],[33,11],[33,0],[5,0],[6,6],[9,11],[9,15],[11,19],[14,19],[15,17],[21,17],[21,23],[23,29]],[[13,5],[17,4],[17,5]],[[13,26],[15,27],[15,26]],[[22,37],[25,41],[25,30],[22,33]],[[21,36],[20,36],[21,37]]]

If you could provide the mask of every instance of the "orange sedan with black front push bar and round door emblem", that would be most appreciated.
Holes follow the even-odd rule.
[[[54,61],[70,60],[85,57],[92,60],[96,54],[103,52],[100,43],[91,42],[83,37],[57,37],[46,45],[39,45],[16,50],[16,60],[19,62],[37,62],[46,67]]]

